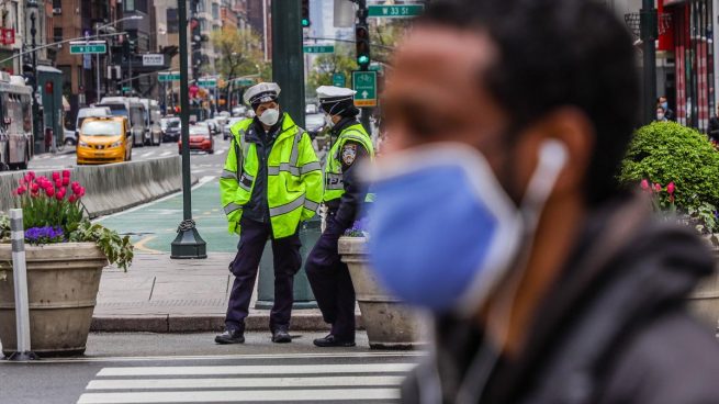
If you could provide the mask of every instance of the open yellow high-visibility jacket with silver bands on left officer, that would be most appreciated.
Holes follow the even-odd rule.
[[[240,234],[243,206],[252,197],[259,167],[257,147],[245,142],[251,119],[235,123],[232,147],[220,179],[228,231]],[[241,169],[238,169],[241,167]],[[312,218],[322,201],[322,167],[310,136],[284,114],[282,128],[267,160],[267,202],[274,238],[293,235],[301,221]]]

